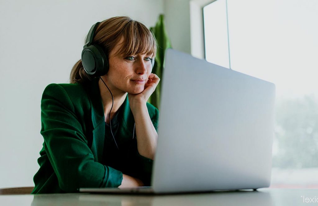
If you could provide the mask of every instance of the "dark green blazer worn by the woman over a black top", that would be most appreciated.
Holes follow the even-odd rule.
[[[122,172],[101,164],[105,116],[98,80],[84,84],[50,84],[45,88],[41,100],[44,143],[32,194],[77,192],[81,187],[121,184]],[[116,138],[132,138],[135,121],[128,95],[122,106]],[[158,109],[149,103],[147,108],[157,130]],[[150,184],[152,160],[137,151],[133,165],[138,178]]]

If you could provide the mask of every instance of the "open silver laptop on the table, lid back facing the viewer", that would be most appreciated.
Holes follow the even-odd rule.
[[[185,193],[268,187],[275,85],[168,49],[152,187],[80,192]]]

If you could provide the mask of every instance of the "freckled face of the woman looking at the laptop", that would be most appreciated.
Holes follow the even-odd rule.
[[[141,93],[151,74],[153,57],[142,54],[115,56],[114,54],[123,46],[121,42],[122,39],[108,56],[109,70],[105,77],[113,89],[131,94]]]

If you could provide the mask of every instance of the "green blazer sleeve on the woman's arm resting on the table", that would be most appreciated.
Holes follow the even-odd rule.
[[[121,185],[121,171],[95,162],[72,100],[62,86],[50,84],[45,88],[41,122],[45,151],[62,190]]]

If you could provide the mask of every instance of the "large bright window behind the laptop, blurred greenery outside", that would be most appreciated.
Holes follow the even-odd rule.
[[[203,9],[206,60],[276,85],[272,187],[318,188],[317,10],[316,0]]]

